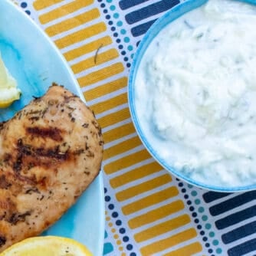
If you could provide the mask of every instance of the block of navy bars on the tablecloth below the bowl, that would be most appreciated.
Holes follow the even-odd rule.
[[[227,198],[228,195],[235,196]],[[205,192],[202,198],[205,203],[212,204],[209,212],[217,218],[215,227],[223,232],[222,242],[225,245],[230,245],[227,251],[228,256],[256,255],[256,238],[252,238],[256,234],[256,221],[254,218],[256,216],[256,205],[245,206],[245,204],[256,199],[256,191],[238,194]],[[214,205],[215,201],[217,202]],[[231,214],[221,217],[223,213],[228,213],[228,211],[231,211]],[[247,223],[244,224],[244,221],[247,221]],[[232,225],[236,225],[236,227],[230,231],[229,227]],[[229,228],[229,230],[226,231],[226,228]],[[241,238],[248,236],[251,236],[250,240],[239,243]],[[236,241],[236,245],[232,246],[231,243],[234,241]]]

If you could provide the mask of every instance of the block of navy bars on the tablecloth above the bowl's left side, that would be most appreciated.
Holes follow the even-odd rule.
[[[119,2],[120,8],[124,10],[128,10],[136,5],[140,5],[143,2],[149,2],[146,0],[122,0]],[[150,28],[151,25],[156,21],[156,17],[152,18],[150,21],[143,22],[143,20],[153,17],[154,15],[159,15],[164,11],[169,10],[175,5],[179,4],[179,0],[162,0],[159,2],[155,2],[151,5],[143,6],[142,8],[136,9],[136,11],[128,12],[125,15],[126,22],[129,25],[134,25],[131,27],[131,33],[133,37],[138,37],[139,35],[143,35]],[[136,24],[136,25],[135,25]]]

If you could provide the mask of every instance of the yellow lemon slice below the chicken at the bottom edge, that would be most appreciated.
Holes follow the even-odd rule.
[[[71,238],[40,236],[11,245],[0,256],[93,256],[86,246]]]

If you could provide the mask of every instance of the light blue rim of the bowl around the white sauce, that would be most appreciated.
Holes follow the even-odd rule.
[[[208,0],[187,0],[185,2],[182,2],[179,5],[176,5],[171,10],[167,11],[165,15],[162,15],[161,18],[159,18],[152,26],[149,28],[149,30],[146,32],[145,36],[143,37],[142,41],[139,43],[139,47],[136,50],[136,54],[134,54],[133,57],[133,64],[130,69],[130,77],[129,77],[129,83],[128,83],[128,101],[129,101],[129,107],[130,107],[130,113],[133,120],[133,124],[136,128],[136,132],[141,139],[143,145],[146,147],[146,149],[149,151],[150,155],[153,156],[154,159],[156,159],[159,164],[172,173],[174,176],[178,177],[179,179],[184,180],[185,182],[188,182],[191,185],[195,185],[202,189],[212,190],[216,192],[242,192],[242,191],[249,191],[256,189],[256,184],[254,185],[245,185],[245,186],[236,186],[236,187],[224,187],[224,186],[218,186],[218,185],[208,185],[202,182],[198,182],[194,179],[189,178],[188,176],[185,176],[182,172],[179,172],[179,170],[173,168],[173,166],[170,166],[166,160],[162,159],[162,157],[157,153],[154,146],[149,143],[149,139],[146,137],[145,133],[143,133],[143,129],[141,128],[141,125],[139,123],[139,118],[136,114],[136,107],[135,107],[135,80],[136,80],[136,74],[139,69],[139,64],[143,58],[143,55],[146,52],[146,49],[149,47],[149,44],[153,41],[154,38],[156,38],[156,35],[159,34],[160,31],[162,31],[163,28],[166,27],[166,25],[169,25],[172,21],[176,20],[176,18],[179,18],[180,16],[184,15],[188,11],[192,11],[195,8],[199,8],[200,6],[204,5]],[[247,2],[250,4],[256,5],[256,0],[241,0],[241,2]]]

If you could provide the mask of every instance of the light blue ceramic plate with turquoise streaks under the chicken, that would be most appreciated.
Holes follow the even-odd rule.
[[[10,73],[18,80],[21,100],[0,110],[8,120],[34,97],[44,94],[52,82],[62,84],[84,99],[70,67],[50,39],[9,0],[0,1],[0,51]],[[103,179],[98,176],[76,205],[44,235],[60,235],[82,242],[101,256],[104,235]]]

